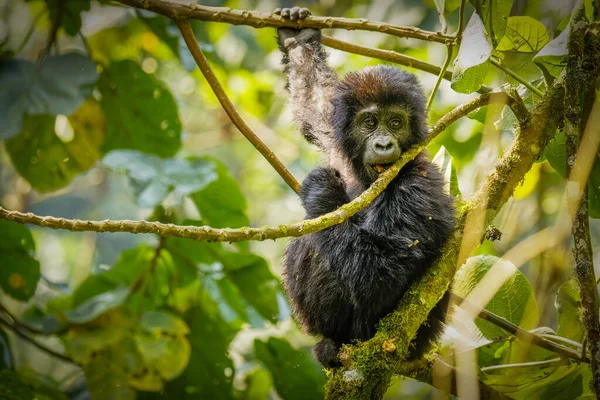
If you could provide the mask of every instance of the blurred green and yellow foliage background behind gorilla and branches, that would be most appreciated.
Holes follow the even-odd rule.
[[[268,12],[291,2],[203,2]],[[312,1],[315,15],[368,18],[452,34],[459,0]],[[482,85],[515,88],[528,108],[566,65],[572,1],[470,0],[451,82],[430,110],[435,122]],[[585,11],[590,18],[591,2]],[[249,125],[301,179],[319,153],[295,132],[273,29],[191,21],[196,38]],[[374,32],[327,32],[441,65],[441,44]],[[378,60],[329,50],[339,73]],[[517,77],[507,76],[492,63]],[[426,93],[437,77],[414,71]],[[297,196],[237,132],[198,71],[173,21],[116,2],[0,0],[0,204],[80,219],[158,220],[217,228],[297,222]],[[488,106],[430,145],[457,197],[473,193],[510,146],[517,121]],[[565,141],[540,162],[458,274],[467,296],[501,256],[553,225],[564,209]],[[600,161],[589,178],[600,218]],[[600,225],[591,221],[592,238]],[[286,241],[205,243],[126,234],[72,233],[0,220],[0,397],[37,399],[318,399],[326,375],[314,339],[290,316],[280,286]],[[485,307],[554,340],[584,340],[579,293],[568,280],[568,243],[533,258]],[[594,248],[596,259],[600,250]],[[512,267],[514,269],[514,266]],[[465,326],[479,367],[548,361],[480,318],[449,322],[444,346]],[[14,317],[14,318],[13,318]],[[454,325],[458,324],[458,325]],[[17,335],[15,332],[19,332]],[[455,336],[452,336],[454,332]],[[66,354],[77,365],[32,346]],[[464,344],[462,345],[464,349]],[[585,398],[587,364],[484,370],[514,398]],[[386,398],[425,399],[431,387],[397,380]]]

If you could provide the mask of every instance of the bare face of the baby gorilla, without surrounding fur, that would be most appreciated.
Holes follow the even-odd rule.
[[[410,135],[408,112],[401,106],[371,105],[356,113],[354,132],[362,142],[365,172],[373,180],[385,171],[405,149]]]

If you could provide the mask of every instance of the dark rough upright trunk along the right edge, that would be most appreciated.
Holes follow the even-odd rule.
[[[565,137],[566,137],[566,169],[567,169],[567,205],[572,218],[573,258],[575,260],[575,279],[581,295],[581,319],[589,341],[592,377],[596,398],[600,399],[600,321],[598,318],[598,289],[594,273],[594,259],[590,241],[588,216],[587,182],[589,172],[596,158],[596,148],[581,146],[583,143],[583,127],[595,116],[589,117],[591,103],[594,102],[595,82],[598,77],[598,66],[594,60],[584,57],[590,52],[600,50],[600,40],[588,39],[588,25],[577,20],[571,21],[569,35],[569,53],[566,68],[565,95]],[[593,40],[590,46],[587,42]],[[595,45],[595,46],[594,46]],[[596,56],[597,57],[597,56]],[[598,60],[595,60],[598,62]],[[583,107],[581,106],[583,104]],[[598,102],[594,104],[595,108]],[[586,129],[585,135],[597,135]],[[592,130],[597,127],[592,127]],[[596,143],[597,147],[597,143]]]

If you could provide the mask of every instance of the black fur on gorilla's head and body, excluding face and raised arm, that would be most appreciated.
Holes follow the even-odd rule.
[[[321,59],[320,43],[311,46]],[[368,140],[356,126],[359,110],[373,105],[407,110],[410,132],[398,143],[402,150],[427,134],[425,96],[415,76],[399,69],[378,66],[350,73],[336,86],[332,102],[333,142],[348,156],[359,183],[348,187],[333,168],[311,171],[300,191],[307,218],[337,209],[375,179],[363,161]],[[336,366],[343,343],[375,334],[379,320],[439,255],[454,215],[440,172],[421,153],[365,210],[290,242],[284,257],[285,287],[298,322],[307,333],[323,337],[314,349],[319,362]],[[413,357],[437,339],[447,305],[448,294],[419,329]]]

